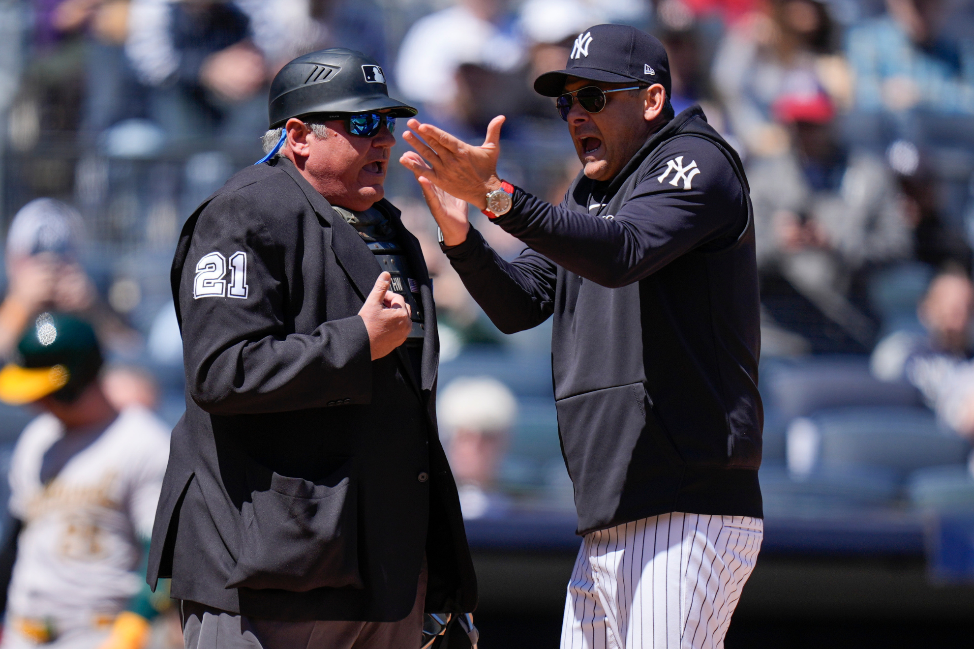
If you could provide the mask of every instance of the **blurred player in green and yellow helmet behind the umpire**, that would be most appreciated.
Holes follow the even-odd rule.
[[[3,554],[14,562],[12,574],[9,562],[0,567],[0,647],[143,647],[162,603],[148,593],[144,563],[169,431],[146,410],[108,403],[87,323],[42,313],[18,352],[0,371],[0,399],[45,412],[11,460],[15,528]]]

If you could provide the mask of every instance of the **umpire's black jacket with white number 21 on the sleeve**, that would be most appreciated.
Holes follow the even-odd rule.
[[[434,407],[438,342],[419,242],[382,200],[426,313],[422,376],[370,360],[357,315],[379,263],[286,159],[237,173],[179,237],[172,294],[186,414],[172,432],[148,581],[274,620],[471,611],[476,583]],[[418,641],[418,640],[417,640]]]

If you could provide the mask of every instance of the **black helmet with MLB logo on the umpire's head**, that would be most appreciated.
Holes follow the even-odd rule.
[[[271,83],[270,127],[311,113],[368,113],[392,109],[392,117],[413,117],[412,106],[390,98],[378,61],[354,50],[331,48],[298,56]]]

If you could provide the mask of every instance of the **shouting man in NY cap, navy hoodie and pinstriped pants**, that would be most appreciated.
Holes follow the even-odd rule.
[[[583,164],[560,205],[497,177],[504,118],[482,147],[410,121],[426,143],[407,133],[419,155],[400,162],[498,327],[554,318],[583,536],[562,647],[721,647],[763,538],[758,278],[740,159],[698,106],[673,115],[666,52],[638,29],[586,29],[535,90],[557,97]],[[506,262],[464,201],[529,247]]]

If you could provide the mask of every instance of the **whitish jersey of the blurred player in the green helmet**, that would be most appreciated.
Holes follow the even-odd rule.
[[[53,415],[31,421],[11,459],[10,511],[23,528],[8,615],[67,630],[125,609],[168,459],[168,428],[142,408],[67,437]]]

